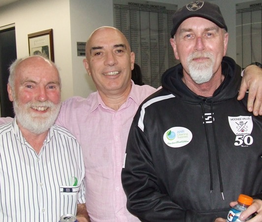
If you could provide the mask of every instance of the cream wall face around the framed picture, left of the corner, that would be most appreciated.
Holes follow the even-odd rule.
[[[17,57],[29,55],[28,34],[53,28],[62,99],[73,95],[69,0],[19,0],[0,7],[0,26],[15,23]]]

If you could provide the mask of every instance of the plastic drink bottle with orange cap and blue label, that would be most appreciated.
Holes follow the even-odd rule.
[[[237,204],[233,206],[229,210],[227,222],[245,222],[248,221],[252,218],[252,216],[248,217],[244,221],[240,221],[238,218],[242,211],[246,210],[253,202],[253,198],[246,196],[244,194],[240,194],[238,199],[237,199]]]

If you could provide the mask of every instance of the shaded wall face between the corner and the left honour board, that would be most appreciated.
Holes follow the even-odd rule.
[[[100,26],[113,26],[113,0],[70,0],[71,45],[74,95],[87,97],[96,90],[83,65],[84,56],[77,56],[77,42],[86,42]]]

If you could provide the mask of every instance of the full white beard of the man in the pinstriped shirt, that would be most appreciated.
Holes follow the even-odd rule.
[[[17,119],[24,128],[35,134],[41,134],[49,130],[49,128],[55,123],[58,113],[61,107],[61,102],[54,104],[51,101],[44,102],[28,102],[27,104],[20,104],[15,98],[13,101],[14,112]],[[33,106],[46,106],[48,112],[43,114],[32,114],[29,109]]]

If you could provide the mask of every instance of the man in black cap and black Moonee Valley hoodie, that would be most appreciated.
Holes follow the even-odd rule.
[[[225,56],[219,7],[191,2],[173,24],[181,64],[134,117],[122,170],[127,209],[143,222],[226,222],[239,194],[261,196],[262,117],[247,111],[248,93],[237,100],[241,68]],[[261,222],[260,199],[239,219],[255,212]]]

